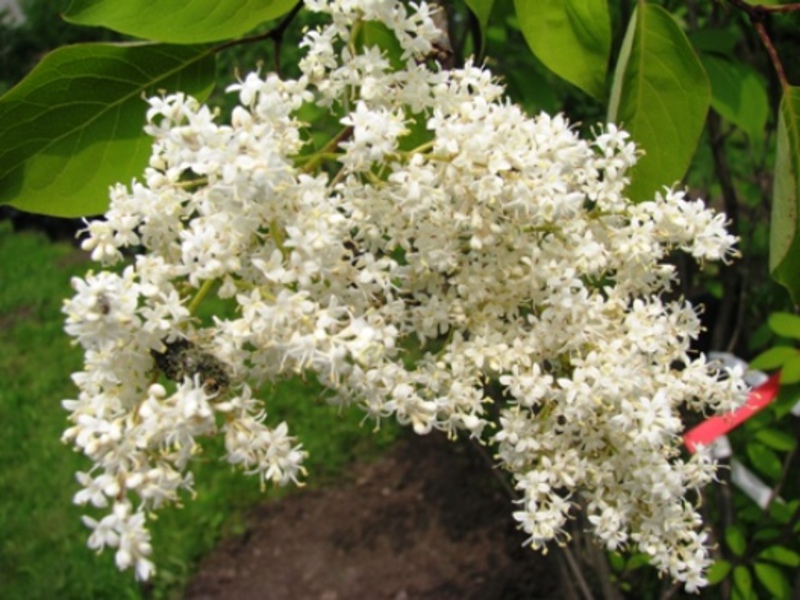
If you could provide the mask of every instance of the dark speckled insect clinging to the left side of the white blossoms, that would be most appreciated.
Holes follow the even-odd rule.
[[[156,367],[170,381],[181,382],[186,377],[199,376],[208,394],[218,394],[230,385],[228,366],[210,352],[205,352],[193,342],[178,338],[164,342],[163,352],[151,350]]]

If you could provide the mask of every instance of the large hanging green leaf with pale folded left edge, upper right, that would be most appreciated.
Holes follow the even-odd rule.
[[[683,31],[663,8],[640,3],[617,61],[608,112],[645,152],[631,173],[631,199],[651,198],[684,176],[710,102],[708,78]]]

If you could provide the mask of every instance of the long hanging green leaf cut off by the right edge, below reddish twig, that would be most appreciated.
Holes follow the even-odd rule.
[[[800,88],[785,90],[779,114],[769,270],[800,304]]]

